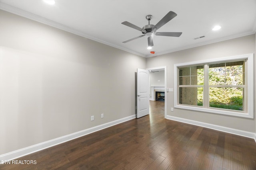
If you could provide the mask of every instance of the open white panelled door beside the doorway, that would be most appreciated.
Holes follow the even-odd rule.
[[[149,114],[149,71],[137,68],[137,118]]]

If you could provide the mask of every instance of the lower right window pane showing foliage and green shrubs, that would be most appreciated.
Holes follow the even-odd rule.
[[[244,110],[243,91],[244,88],[210,88],[210,107]]]

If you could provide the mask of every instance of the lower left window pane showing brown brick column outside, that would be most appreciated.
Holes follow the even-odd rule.
[[[193,106],[203,106],[203,88],[180,87],[179,103]]]

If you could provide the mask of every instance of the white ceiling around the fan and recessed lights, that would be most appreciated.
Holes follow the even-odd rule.
[[[143,57],[152,57],[200,45],[224,41],[256,31],[256,0],[0,0],[0,9],[99,41]],[[159,32],[182,32],[180,37],[154,36],[148,50],[146,37],[121,24],[129,21],[143,27],[146,15],[156,24],[169,11],[178,14]],[[222,28],[212,31],[215,25]],[[202,39],[195,37],[205,36]],[[150,54],[155,51],[155,54]]]

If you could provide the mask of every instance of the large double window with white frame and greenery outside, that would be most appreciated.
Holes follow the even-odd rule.
[[[253,63],[249,54],[175,64],[174,107],[253,118]]]

